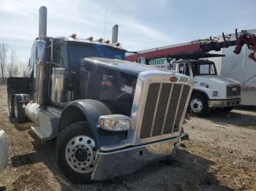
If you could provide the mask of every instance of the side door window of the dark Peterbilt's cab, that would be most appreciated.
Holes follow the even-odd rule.
[[[53,62],[59,66],[67,66],[67,48],[62,40],[54,39],[53,41]]]

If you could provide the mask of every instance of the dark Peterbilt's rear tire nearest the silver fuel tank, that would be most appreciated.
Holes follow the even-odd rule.
[[[25,104],[26,96],[23,94],[17,94],[13,97],[13,112],[16,122],[26,122],[27,118],[25,115],[25,109],[23,109],[23,104]]]

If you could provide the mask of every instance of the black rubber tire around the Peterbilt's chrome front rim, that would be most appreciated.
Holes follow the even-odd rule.
[[[67,151],[67,148],[69,148],[67,145],[70,143],[70,141],[72,139],[74,139],[77,136],[87,136],[94,140],[94,136],[89,128],[88,122],[86,122],[86,121],[75,122],[75,123],[69,125],[67,128],[65,128],[63,131],[61,131],[61,133],[58,136],[57,141],[56,141],[56,148],[55,148],[56,163],[59,166],[59,169],[61,170],[61,172],[64,174],[64,176],[66,176],[68,179],[72,180],[73,182],[88,183],[88,182],[91,182],[91,173],[92,173],[94,166],[91,167],[91,165],[89,165],[91,168],[90,172],[80,173],[80,172],[72,169],[72,167],[69,165],[72,162],[68,162],[68,159],[66,157],[66,151]],[[84,148],[86,148],[86,147],[84,147]],[[78,149],[76,151],[74,151],[74,154],[77,151],[78,151]],[[94,152],[96,153],[95,147],[94,147]],[[86,152],[86,156],[87,156],[87,152]],[[92,156],[93,156],[92,160],[94,163],[95,155],[92,155]],[[76,156],[75,157],[73,156],[72,160],[73,159],[78,160],[76,158]],[[86,160],[87,160],[87,158],[86,158]],[[84,162],[86,162],[86,160]],[[83,163],[83,162],[81,162],[81,163]]]

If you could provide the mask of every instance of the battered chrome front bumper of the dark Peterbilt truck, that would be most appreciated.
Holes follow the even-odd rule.
[[[91,179],[105,180],[131,174],[149,163],[167,159],[178,142],[179,139],[175,138],[112,152],[98,152]]]

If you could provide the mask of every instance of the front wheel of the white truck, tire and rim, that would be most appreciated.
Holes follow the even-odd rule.
[[[202,93],[194,93],[189,100],[189,111],[199,117],[207,117],[209,113],[208,101]]]

